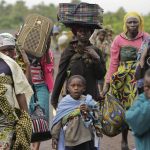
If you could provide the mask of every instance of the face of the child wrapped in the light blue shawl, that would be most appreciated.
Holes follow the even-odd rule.
[[[68,84],[67,90],[69,91],[69,94],[74,99],[79,99],[80,96],[85,91],[85,85],[83,84],[82,80],[79,78],[74,78],[71,80],[71,82]]]

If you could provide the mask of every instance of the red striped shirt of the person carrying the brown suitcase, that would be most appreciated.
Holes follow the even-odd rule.
[[[33,84],[44,83],[44,75],[40,64],[37,66],[31,65],[31,75]]]

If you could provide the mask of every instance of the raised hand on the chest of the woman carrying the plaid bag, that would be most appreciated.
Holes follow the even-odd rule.
[[[91,48],[90,46],[87,46],[85,48],[85,52],[92,57],[93,59],[95,59],[96,61],[100,60],[99,55],[95,52],[95,50],[93,48]]]

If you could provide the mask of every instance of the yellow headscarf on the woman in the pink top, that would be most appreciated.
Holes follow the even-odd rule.
[[[124,16],[124,25],[123,25],[124,33],[127,32],[126,22],[127,22],[127,19],[130,18],[130,17],[134,17],[134,18],[138,19],[138,21],[139,21],[139,32],[144,31],[144,19],[143,19],[143,17],[137,12],[128,12]]]

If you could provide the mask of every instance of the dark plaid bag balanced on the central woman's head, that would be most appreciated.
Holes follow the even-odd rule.
[[[93,28],[102,28],[103,9],[97,4],[60,3],[58,21],[66,26],[83,24]]]

